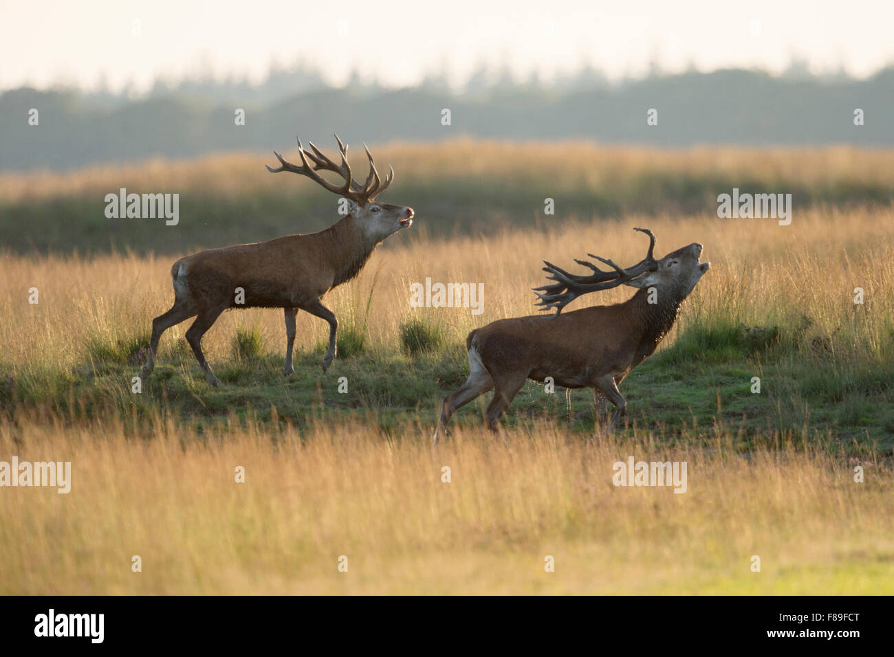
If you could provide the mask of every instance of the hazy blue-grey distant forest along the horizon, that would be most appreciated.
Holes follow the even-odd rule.
[[[450,125],[444,125],[444,110]],[[650,125],[649,111],[657,120]],[[863,125],[855,124],[862,110]],[[32,125],[37,110],[37,125]],[[244,110],[244,125],[237,125]],[[294,138],[588,139],[654,147],[696,144],[894,145],[894,66],[871,78],[746,70],[653,72],[609,82],[586,68],[544,82],[481,70],[463,88],[432,76],[383,88],[354,76],[333,88],[303,66],[240,80],[156,82],[135,96],[17,88],[0,95],[0,169],[66,170],[149,157],[294,148]],[[653,120],[653,122],[655,122]]]

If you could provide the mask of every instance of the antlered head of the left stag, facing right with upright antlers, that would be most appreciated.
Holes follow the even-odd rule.
[[[364,144],[364,148],[367,151],[367,159],[369,160],[369,173],[367,173],[367,181],[361,184],[354,180],[353,173],[351,173],[350,164],[348,164],[348,145],[342,143],[342,139],[339,139],[338,135],[335,135],[335,140],[338,141],[342,164],[333,162],[312,142],[308,141],[310,150],[305,150],[301,146],[301,140],[299,139],[300,166],[286,162],[283,156],[274,151],[274,156],[282,165],[276,169],[267,166],[267,171],[271,173],[288,171],[305,175],[326,190],[347,199],[349,214],[358,223],[358,227],[369,240],[380,242],[389,235],[400,231],[401,228],[409,228],[413,224],[414,213],[412,207],[375,202],[375,197],[387,190],[394,181],[394,170],[392,167],[389,165],[388,175],[382,181],[378,171],[375,169],[373,156],[369,152],[369,148]],[[327,181],[319,173],[316,173],[321,170],[337,173],[342,177],[342,184]]]

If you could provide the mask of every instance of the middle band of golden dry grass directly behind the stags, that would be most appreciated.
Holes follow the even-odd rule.
[[[417,224],[425,225],[425,215]],[[544,282],[541,261],[573,267],[573,258],[595,252],[620,263],[637,262],[647,241],[634,226],[650,227],[657,253],[692,241],[704,244],[712,269],[681,312],[675,332],[694,323],[793,325],[806,316],[805,340],[831,341],[839,356],[880,358],[891,343],[894,317],[894,240],[890,210],[811,210],[789,226],[772,219],[721,220],[712,216],[631,216],[617,222],[563,222],[544,230],[502,232],[487,237],[417,240],[402,235],[379,248],[354,282],[327,297],[342,324],[368,317],[373,349],[400,349],[401,322],[413,313],[409,285],[424,282],[484,283],[484,312],[469,308],[425,309],[443,324],[448,342],[461,350],[472,328],[506,316],[536,313],[530,288]],[[416,226],[409,230],[416,230]],[[4,255],[0,281],[0,364],[7,375],[70,371],[88,357],[91,341],[148,335],[153,316],[173,301],[172,257],[113,255],[21,257]],[[375,286],[373,285],[374,279]],[[30,288],[39,303],[28,303]],[[864,305],[853,302],[864,290]],[[626,288],[585,298],[573,307],[629,296]],[[306,313],[298,316],[296,349],[311,350],[328,328]],[[230,358],[238,326],[255,327],[266,350],[284,350],[282,313],[248,309],[225,313],[203,341],[209,361]],[[162,348],[182,337],[189,323],[165,333]],[[672,333],[670,343],[676,333]]]

